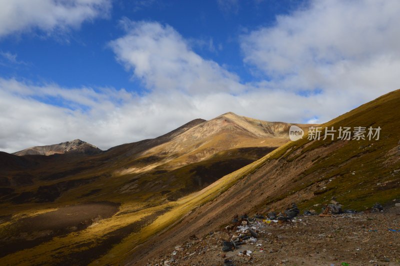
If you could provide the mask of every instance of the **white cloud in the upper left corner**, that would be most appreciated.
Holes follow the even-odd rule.
[[[110,0],[0,0],[0,37],[38,28],[47,33],[104,17]]]

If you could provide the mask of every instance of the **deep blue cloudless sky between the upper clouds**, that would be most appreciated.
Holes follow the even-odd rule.
[[[1,58],[2,77],[27,78],[33,82],[55,82],[62,86],[112,86],[140,90],[114,59],[107,42],[123,34],[122,18],[158,21],[171,25],[192,43],[204,58],[226,64],[244,81],[252,80],[243,67],[238,35],[250,28],[275,23],[277,14],[285,14],[302,1],[248,1],[218,5],[206,1],[115,1],[106,19],[95,19],[68,32],[32,30],[9,34],[1,39],[2,52],[17,55],[22,64],[10,64]],[[133,82],[132,82],[133,81]]]

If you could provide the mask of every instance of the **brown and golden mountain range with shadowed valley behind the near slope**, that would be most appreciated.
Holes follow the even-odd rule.
[[[1,152],[0,263],[99,259],[180,198],[286,143],[290,125],[229,112],[102,152]]]

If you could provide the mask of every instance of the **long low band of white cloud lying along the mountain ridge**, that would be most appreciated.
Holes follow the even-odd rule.
[[[107,149],[230,110],[250,117],[294,121],[300,115],[310,115],[301,105],[287,106],[301,98],[280,91],[235,96],[223,91],[188,95],[154,90],[138,96],[123,89],[62,88],[0,78],[0,112],[6,114],[0,116],[0,150],[14,152],[75,138]],[[61,106],[54,105],[54,100]],[[312,102],[311,98],[306,100]]]

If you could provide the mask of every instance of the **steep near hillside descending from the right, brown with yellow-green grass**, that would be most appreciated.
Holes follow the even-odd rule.
[[[333,140],[313,140],[306,135],[288,142],[179,199],[173,209],[148,226],[154,237],[144,243],[137,235],[127,237],[125,241],[135,247],[112,249],[99,261],[110,261],[110,254],[125,254],[125,262],[145,263],[171,252],[170,247],[190,235],[204,236],[226,225],[234,214],[281,211],[291,202],[297,202],[301,211],[319,211],[332,196],[349,209],[365,210],[375,202],[392,206],[392,200],[400,197],[399,105],[400,90],[396,90],[320,125],[322,135],[325,127],[331,126],[380,127],[378,140],[341,140],[336,132]],[[142,232],[150,235],[146,228]]]

